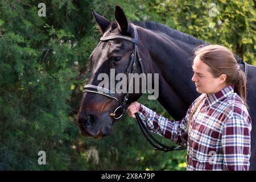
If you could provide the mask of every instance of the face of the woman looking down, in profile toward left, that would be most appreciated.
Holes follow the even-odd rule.
[[[196,84],[197,92],[211,95],[225,87],[226,75],[222,74],[220,77],[214,78],[209,72],[209,66],[201,61],[199,56],[195,57],[192,69],[194,72],[192,81]]]

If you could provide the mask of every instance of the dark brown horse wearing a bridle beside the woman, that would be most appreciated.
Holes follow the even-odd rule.
[[[89,57],[92,72],[86,87],[88,90],[85,90],[87,92],[82,96],[77,114],[80,133],[85,137],[93,138],[110,135],[113,124],[122,117],[127,106],[142,96],[143,93],[121,93],[113,96],[109,90],[102,90],[101,87],[96,86],[100,83],[97,79],[100,73],[110,75],[111,69],[116,73],[125,73],[130,65],[131,55],[134,56],[135,47],[141,56],[139,61],[143,63],[144,73],[159,73],[157,100],[176,121],[182,119],[189,105],[200,95],[191,81],[195,48],[209,43],[164,24],[128,22],[119,6],[115,7],[114,22],[110,22],[94,10],[92,15],[102,38],[107,39],[101,39]],[[135,41],[134,36],[137,36],[138,42]],[[126,39],[122,39],[123,37]],[[235,57],[247,77],[246,100],[252,118],[250,170],[256,170],[256,67],[246,64],[238,56]],[[133,66],[137,73],[142,73],[140,64],[134,63]],[[97,94],[99,89],[102,91],[101,94]],[[120,106],[119,101],[125,102]],[[115,114],[119,114],[119,117],[113,117]]]

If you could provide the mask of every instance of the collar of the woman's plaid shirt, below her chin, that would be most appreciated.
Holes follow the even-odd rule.
[[[228,97],[230,94],[234,93],[234,85],[226,86],[222,90],[212,94],[209,96],[207,94],[207,98],[205,100],[205,106],[211,107],[216,104],[218,101],[223,100],[224,98]]]

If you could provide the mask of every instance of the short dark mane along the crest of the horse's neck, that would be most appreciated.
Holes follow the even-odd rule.
[[[176,38],[179,39],[181,41],[187,42],[187,43],[192,43],[195,45],[208,45],[209,43],[204,42],[203,40],[197,39],[191,35],[188,34],[184,34],[183,32],[179,32],[175,29],[172,29],[170,27],[167,27],[166,25],[162,24],[162,23],[157,23],[157,22],[150,22],[150,21],[134,21],[132,22],[137,26],[140,26],[142,28],[147,28],[149,30],[152,31],[159,31],[159,32],[163,32],[164,34],[171,36],[172,38]],[[237,63],[242,64],[243,60],[241,59],[241,57],[237,56],[234,54],[234,57],[237,60]]]

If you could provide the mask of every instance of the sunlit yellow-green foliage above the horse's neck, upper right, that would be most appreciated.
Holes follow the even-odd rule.
[[[158,17],[158,22],[205,42],[226,46],[256,65],[254,1],[156,0],[150,1],[147,8],[148,15]]]

